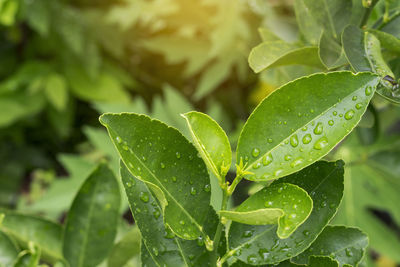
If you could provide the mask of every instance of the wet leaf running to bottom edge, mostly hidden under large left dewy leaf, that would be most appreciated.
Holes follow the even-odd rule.
[[[133,217],[142,233],[142,259],[143,247],[145,247],[147,250],[145,254],[149,254],[158,266],[190,266],[192,264],[204,266],[200,264],[204,261],[208,265],[211,252],[205,248],[204,243],[207,241],[202,237],[193,241],[179,239],[168,226],[164,225],[161,206],[148,186],[132,176],[123,163],[121,163],[121,177]],[[203,225],[204,231],[214,236],[217,224],[218,217],[210,207],[207,221]]]

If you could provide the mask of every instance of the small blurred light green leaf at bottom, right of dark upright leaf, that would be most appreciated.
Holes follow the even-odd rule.
[[[136,222],[137,223],[137,222]],[[132,229],[112,248],[107,259],[107,266],[124,266],[130,259],[140,253],[140,231],[137,226]]]

